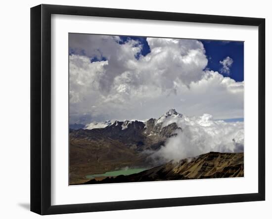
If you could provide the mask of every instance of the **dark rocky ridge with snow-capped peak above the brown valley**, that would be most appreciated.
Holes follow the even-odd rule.
[[[172,136],[174,131],[181,130],[176,123],[163,126],[166,118],[182,116],[176,110],[171,109],[158,120],[149,119],[141,121],[115,121],[104,128],[95,129],[70,129],[70,140],[84,138],[86,140],[99,140],[105,137],[119,140],[128,147],[134,147],[138,151],[144,149],[157,149],[164,141]]]

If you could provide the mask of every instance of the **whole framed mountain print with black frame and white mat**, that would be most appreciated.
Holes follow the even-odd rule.
[[[31,8],[31,211],[262,200],[265,19]]]

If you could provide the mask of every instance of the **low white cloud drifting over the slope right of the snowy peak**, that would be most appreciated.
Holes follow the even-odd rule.
[[[177,135],[167,139],[165,146],[151,157],[165,163],[171,160],[178,162],[188,157],[196,157],[210,151],[243,152],[244,123],[227,123],[215,121],[209,114],[199,117],[176,117],[164,121],[164,126],[176,122],[181,130]]]

